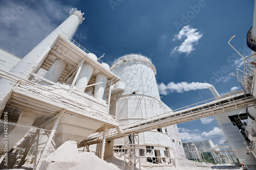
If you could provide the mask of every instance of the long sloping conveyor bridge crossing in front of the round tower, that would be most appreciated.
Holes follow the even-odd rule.
[[[240,90],[237,91],[237,93],[238,94],[236,95],[230,95],[228,97],[226,97],[226,94],[224,98],[223,96],[219,96],[218,98],[213,98],[194,105],[186,106],[171,112],[141,120],[133,124],[119,126],[120,131],[117,131],[118,128],[110,129],[106,132],[105,139],[117,139],[132,133],[146,132],[157,128],[167,127],[189,122],[191,120],[256,106],[256,99],[249,92]],[[99,143],[102,139],[101,133],[90,136],[80,142],[78,144],[78,148],[84,147],[84,142],[86,142],[87,145],[90,145]]]

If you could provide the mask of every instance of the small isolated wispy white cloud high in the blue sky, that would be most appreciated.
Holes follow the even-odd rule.
[[[181,29],[178,35],[175,35],[174,40],[184,40],[181,45],[175,46],[174,50],[171,54],[176,51],[180,53],[186,53],[187,55],[194,51],[194,46],[198,43],[199,39],[203,36],[199,32],[196,32],[197,29],[190,28],[189,26],[185,26]]]

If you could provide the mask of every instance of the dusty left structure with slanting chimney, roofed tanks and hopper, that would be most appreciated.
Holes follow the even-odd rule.
[[[48,136],[37,156],[39,161],[34,160],[38,169],[50,154],[50,145],[58,147],[67,140],[79,142],[94,132],[118,126],[117,118],[109,114],[110,103],[103,99],[103,93],[119,78],[108,64],[72,40],[82,21],[82,13],[72,9],[69,18],[9,72],[1,69],[1,126],[6,125],[8,118],[8,129],[0,134],[2,154],[9,152],[31,127],[36,127],[30,147],[39,130]],[[84,73],[89,69],[90,74]],[[46,72],[44,77],[41,72]],[[7,138],[8,147],[4,143]]]

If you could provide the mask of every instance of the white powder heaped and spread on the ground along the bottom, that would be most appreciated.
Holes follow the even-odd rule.
[[[148,162],[149,163],[149,162]],[[55,152],[50,154],[44,161],[42,162],[42,166],[40,169],[47,170],[76,170],[76,169],[87,169],[87,170],[126,170],[128,169],[127,162],[125,163],[125,169],[123,168],[123,158],[115,155],[102,160],[97,157],[92,152],[82,152],[78,153],[77,145],[75,141],[67,141],[63,143]],[[31,164],[30,164],[31,165]],[[30,166],[28,165],[28,166]],[[148,164],[148,167],[142,167],[141,170],[159,170],[154,167],[155,164]],[[208,164],[209,165],[209,164]],[[27,167],[28,167],[27,166]],[[174,170],[212,170],[212,169],[222,169],[222,170],[230,170],[230,169],[242,169],[242,167],[236,167],[231,164],[217,164],[210,165],[211,167],[188,167],[188,166],[169,166],[169,169]],[[31,169],[27,168],[24,165],[19,170]],[[31,166],[30,166],[31,167]],[[248,166],[248,170],[256,170],[255,166]]]

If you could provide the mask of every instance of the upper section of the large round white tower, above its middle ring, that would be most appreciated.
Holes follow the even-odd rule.
[[[136,92],[160,100],[155,66],[150,59],[137,54],[126,55],[120,57],[111,69],[119,76],[121,82],[126,84],[122,94]]]

